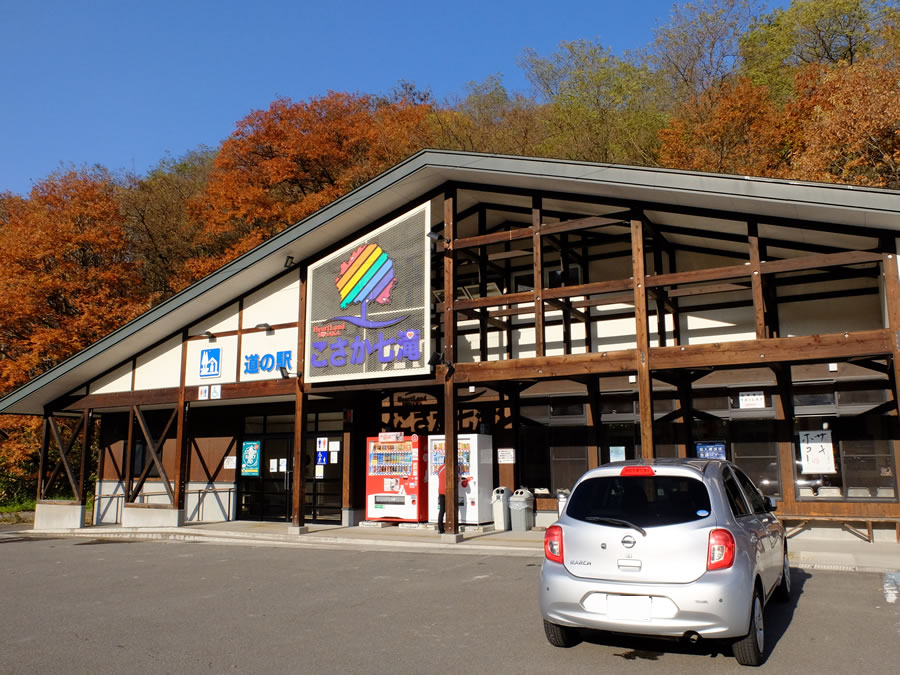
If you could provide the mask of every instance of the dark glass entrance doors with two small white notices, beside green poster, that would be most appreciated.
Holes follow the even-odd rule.
[[[239,520],[289,521],[293,494],[293,445],[290,435],[265,435],[260,443],[259,475],[238,480]]]

